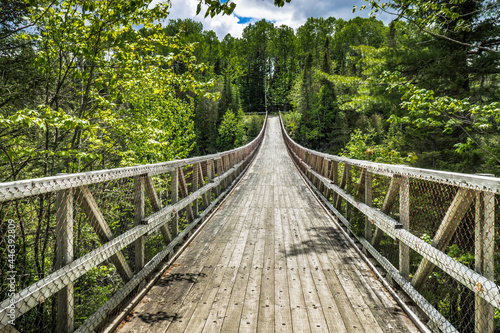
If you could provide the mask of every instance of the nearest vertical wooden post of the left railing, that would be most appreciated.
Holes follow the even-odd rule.
[[[73,261],[73,189],[56,195],[56,265],[60,269]],[[74,286],[69,282],[57,293],[57,332],[74,330]]]

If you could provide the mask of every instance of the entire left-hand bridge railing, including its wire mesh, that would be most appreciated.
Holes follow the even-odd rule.
[[[243,175],[266,123],[227,152],[0,184],[0,331],[99,329]]]

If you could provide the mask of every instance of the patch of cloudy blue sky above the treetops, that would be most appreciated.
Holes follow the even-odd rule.
[[[161,0],[154,0],[153,3]],[[358,8],[366,2],[364,0],[291,0],[284,7],[274,6],[274,0],[234,0],[236,9],[231,16],[218,15],[214,18],[204,18],[204,9],[196,16],[197,0],[171,0],[171,19],[190,18],[203,23],[205,30],[213,30],[219,37],[230,33],[234,37],[241,37],[243,29],[250,23],[265,19],[280,26],[285,24],[297,29],[305,23],[308,17],[336,17],[345,20],[355,16],[368,17],[369,10],[352,13],[353,6]],[[388,23],[390,17],[380,16]]]

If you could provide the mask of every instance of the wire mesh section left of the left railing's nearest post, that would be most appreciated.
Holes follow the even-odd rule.
[[[2,202],[0,218],[0,298],[8,299],[54,271],[56,197],[46,193]],[[53,300],[43,301],[20,318],[27,331],[51,329]]]

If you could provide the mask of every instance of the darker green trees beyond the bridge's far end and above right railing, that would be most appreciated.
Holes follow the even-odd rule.
[[[280,110],[290,112],[293,137],[317,150],[500,174],[498,4],[376,3],[396,14],[389,26],[310,18],[294,31],[262,20],[218,40],[200,23],[172,21],[171,33],[199,43],[195,54],[221,95],[197,100],[197,151],[220,149],[227,110]]]

